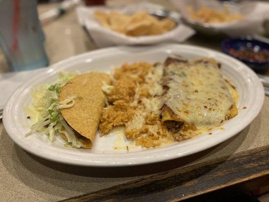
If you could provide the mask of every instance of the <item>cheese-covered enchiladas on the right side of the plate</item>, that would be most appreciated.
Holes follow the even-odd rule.
[[[187,61],[170,56],[164,64],[164,74],[166,102],[162,122],[174,133],[192,136],[190,131],[219,126],[237,115],[237,92],[215,60]]]

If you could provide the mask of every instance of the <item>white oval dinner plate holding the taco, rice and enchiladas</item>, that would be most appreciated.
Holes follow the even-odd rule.
[[[66,148],[60,138],[51,143],[43,134],[29,132],[29,124],[23,106],[30,103],[29,92],[40,83],[57,81],[58,71],[81,73],[87,71],[110,71],[111,67],[124,62],[164,61],[169,54],[179,54],[188,59],[211,57],[222,63],[222,71],[232,80],[239,92],[239,113],[213,134],[201,134],[172,145],[144,150],[114,150],[115,134],[104,137],[96,135],[92,149]],[[212,86],[213,87],[213,86]],[[255,73],[240,61],[216,52],[191,45],[163,44],[158,46],[111,47],[98,49],[52,65],[25,81],[9,98],[4,109],[3,122],[6,131],[16,144],[30,153],[55,162],[79,166],[127,166],[166,161],[197,153],[217,145],[244,129],[259,113],[264,100],[262,84]],[[243,110],[243,107],[247,109]]]

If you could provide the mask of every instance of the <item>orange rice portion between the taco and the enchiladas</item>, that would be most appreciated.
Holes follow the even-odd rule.
[[[162,64],[138,62],[117,68],[112,85],[102,88],[107,106],[100,119],[101,135],[125,126],[126,137],[137,145],[148,148],[160,145],[161,139],[173,141],[160,119],[164,105],[162,76]]]

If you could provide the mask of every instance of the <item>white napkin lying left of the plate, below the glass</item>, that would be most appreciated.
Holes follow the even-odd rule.
[[[0,110],[4,109],[8,98],[17,87],[19,87],[27,79],[31,78],[33,74],[42,70],[44,70],[44,68],[31,71],[0,74]]]

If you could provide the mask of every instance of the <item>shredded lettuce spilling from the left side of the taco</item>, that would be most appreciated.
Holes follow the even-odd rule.
[[[75,105],[75,97],[68,97],[60,103],[58,101],[62,87],[75,76],[76,74],[60,72],[59,81],[50,85],[44,93],[40,93],[40,90],[35,90],[31,93],[31,107],[38,111],[39,114],[38,120],[31,126],[31,130],[43,132],[45,135],[48,135],[48,139],[51,142],[53,142],[55,135],[59,135],[61,132],[67,137],[68,143],[66,146],[79,148],[84,146],[83,143],[76,137],[74,130],[67,124],[60,111],[62,108],[73,107]]]

